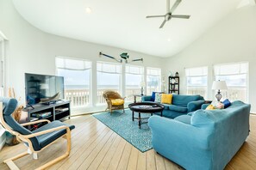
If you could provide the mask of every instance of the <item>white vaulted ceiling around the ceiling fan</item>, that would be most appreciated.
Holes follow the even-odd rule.
[[[171,0],[171,6],[176,0]],[[158,57],[171,57],[234,11],[240,0],[183,0],[174,19],[159,29],[165,0],[13,0],[22,17],[44,32],[116,46]],[[92,9],[86,13],[86,7]]]

